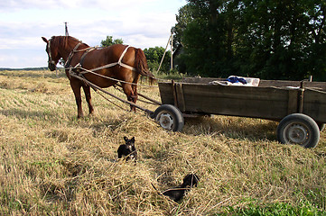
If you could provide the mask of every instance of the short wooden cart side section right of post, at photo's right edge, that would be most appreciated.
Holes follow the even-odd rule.
[[[326,122],[326,92],[305,89],[303,96],[303,113],[314,121]]]

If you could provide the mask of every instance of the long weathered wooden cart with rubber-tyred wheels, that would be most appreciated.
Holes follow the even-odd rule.
[[[326,122],[326,83],[260,80],[258,86],[212,85],[213,78],[159,82],[161,105],[152,117],[167,130],[182,130],[183,116],[219,114],[280,121],[282,143],[315,147]]]

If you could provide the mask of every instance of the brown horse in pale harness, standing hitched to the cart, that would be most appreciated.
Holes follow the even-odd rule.
[[[51,71],[56,69],[60,58],[63,58],[65,62],[66,75],[70,79],[70,86],[76,98],[78,118],[83,116],[80,87],[84,89],[89,114],[93,113],[94,109],[91,103],[89,85],[70,76],[71,71],[74,73],[81,72],[89,82],[102,88],[116,85],[117,80],[121,80],[120,83],[127,100],[133,103],[136,103],[138,97],[136,84],[139,77],[143,75],[150,77],[150,79],[154,78],[148,70],[142,49],[127,47],[122,44],[95,49],[70,36],[53,36],[50,40],[42,37],[42,40],[47,43],[48,67]],[[81,68],[79,67],[78,70],[76,66]],[[131,106],[131,109],[135,111],[134,106]]]

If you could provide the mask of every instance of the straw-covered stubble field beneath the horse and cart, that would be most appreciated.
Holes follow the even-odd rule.
[[[62,72],[0,71],[0,215],[325,215],[325,132],[313,149],[279,144],[274,121],[203,117],[169,132],[92,95],[95,114],[83,97],[77,120]],[[124,136],[135,136],[136,165],[116,160]],[[152,186],[189,173],[200,184],[182,202]]]

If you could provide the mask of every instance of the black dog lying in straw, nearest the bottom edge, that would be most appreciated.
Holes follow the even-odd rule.
[[[196,174],[188,174],[183,178],[180,186],[173,187],[163,192],[163,195],[170,197],[174,202],[182,200],[184,194],[191,190],[191,187],[197,186],[200,178]]]

